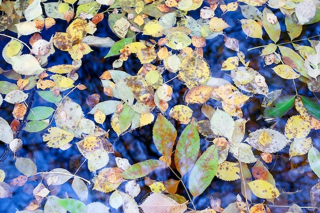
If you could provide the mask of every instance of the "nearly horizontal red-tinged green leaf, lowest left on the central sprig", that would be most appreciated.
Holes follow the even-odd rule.
[[[121,173],[120,177],[126,179],[137,179],[148,175],[156,169],[167,168],[168,165],[161,160],[149,159],[131,165],[126,171]]]

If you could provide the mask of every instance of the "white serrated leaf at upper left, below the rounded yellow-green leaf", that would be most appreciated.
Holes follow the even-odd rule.
[[[21,56],[13,56],[12,58],[12,68],[21,75],[39,75],[44,71],[40,66],[38,60],[30,54],[24,54]]]

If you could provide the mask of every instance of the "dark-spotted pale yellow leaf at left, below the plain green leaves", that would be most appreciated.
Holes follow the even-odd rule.
[[[49,133],[43,134],[43,141],[48,141],[47,146],[52,148],[60,148],[68,144],[74,137],[74,134],[57,127],[48,129]]]

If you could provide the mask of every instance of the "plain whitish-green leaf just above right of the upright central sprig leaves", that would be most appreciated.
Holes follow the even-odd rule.
[[[211,129],[215,134],[224,136],[228,139],[232,138],[235,128],[235,122],[225,111],[217,108],[210,119]]]

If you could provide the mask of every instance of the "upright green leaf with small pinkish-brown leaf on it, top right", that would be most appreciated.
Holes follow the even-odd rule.
[[[269,21],[267,21],[267,14],[268,15],[275,15],[268,8],[265,8],[263,10],[263,19],[262,19],[263,28],[267,32],[267,34],[269,35],[270,39],[273,42],[277,43],[277,41],[280,38],[280,33],[281,33],[280,23],[278,20],[276,23],[273,23],[273,24],[270,23]]]

